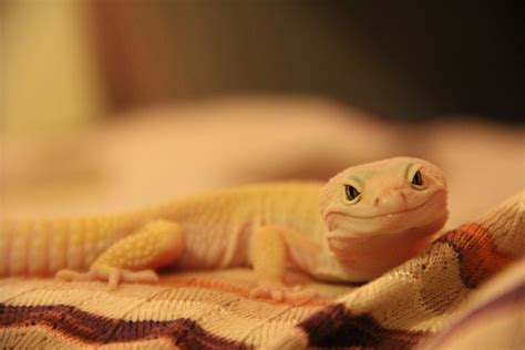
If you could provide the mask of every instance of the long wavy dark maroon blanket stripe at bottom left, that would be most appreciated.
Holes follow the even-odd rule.
[[[7,306],[0,303],[0,329],[48,326],[85,343],[103,344],[165,338],[183,349],[247,349],[246,344],[215,336],[188,318],[169,321],[126,321],[96,316],[75,307]]]

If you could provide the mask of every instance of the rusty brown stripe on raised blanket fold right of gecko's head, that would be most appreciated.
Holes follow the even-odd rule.
[[[461,279],[466,288],[476,288],[502,271],[516,258],[497,251],[490,231],[477,224],[465,224],[437,241],[451,246],[460,259]]]

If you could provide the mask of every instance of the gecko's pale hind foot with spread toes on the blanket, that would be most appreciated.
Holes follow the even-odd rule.
[[[156,284],[158,276],[153,270],[131,271],[126,269],[112,268],[106,272],[89,271],[78,272],[74,270],[63,269],[54,276],[56,279],[65,281],[90,281],[100,280],[107,281],[110,289],[114,290],[121,282],[130,284]]]

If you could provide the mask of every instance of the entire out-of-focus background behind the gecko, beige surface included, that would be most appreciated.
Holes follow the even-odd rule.
[[[446,172],[450,226],[522,189],[521,13],[384,7],[4,2],[2,215],[130,210],[395,155]]]

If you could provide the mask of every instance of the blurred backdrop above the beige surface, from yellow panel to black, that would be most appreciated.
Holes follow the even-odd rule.
[[[525,110],[512,2],[10,0],[2,12],[13,125],[238,93],[323,95],[409,121],[521,122]]]

